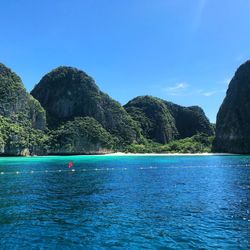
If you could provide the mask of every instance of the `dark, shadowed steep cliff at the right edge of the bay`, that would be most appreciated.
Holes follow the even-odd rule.
[[[250,61],[239,67],[217,114],[214,151],[250,153]]]

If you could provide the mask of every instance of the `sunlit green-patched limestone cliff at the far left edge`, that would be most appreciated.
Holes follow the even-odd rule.
[[[44,154],[46,114],[22,80],[0,64],[0,154]]]

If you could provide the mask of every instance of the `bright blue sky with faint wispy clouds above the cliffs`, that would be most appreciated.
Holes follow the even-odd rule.
[[[122,104],[150,94],[212,122],[250,59],[250,0],[1,0],[0,27],[0,62],[29,91],[74,66]]]

